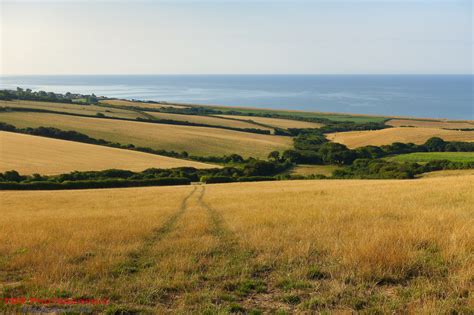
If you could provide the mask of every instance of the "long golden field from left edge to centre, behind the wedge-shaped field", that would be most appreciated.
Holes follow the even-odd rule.
[[[195,155],[237,153],[266,157],[291,147],[289,137],[261,135],[218,128],[154,124],[135,121],[74,117],[44,113],[0,113],[0,121],[16,127],[56,127],[75,130],[96,139],[154,149],[187,151]]]

